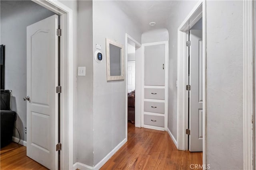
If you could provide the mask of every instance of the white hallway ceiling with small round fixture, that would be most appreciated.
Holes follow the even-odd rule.
[[[179,1],[174,0],[118,0],[115,2],[136,25],[140,25],[143,32],[150,29],[166,28],[173,9],[179,4]],[[156,22],[156,25],[150,26],[150,22]]]

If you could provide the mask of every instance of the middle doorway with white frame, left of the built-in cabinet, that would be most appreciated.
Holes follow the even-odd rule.
[[[126,33],[126,139],[128,121],[141,127],[141,44]],[[135,93],[136,92],[136,93]]]

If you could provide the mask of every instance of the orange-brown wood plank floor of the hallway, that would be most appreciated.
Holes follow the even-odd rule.
[[[202,152],[178,150],[166,131],[138,128],[128,123],[128,142],[101,170],[187,170],[190,164],[202,166]]]

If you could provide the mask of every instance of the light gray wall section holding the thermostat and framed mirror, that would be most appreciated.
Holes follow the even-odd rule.
[[[140,42],[137,25],[113,1],[93,1],[93,48],[102,47],[102,63],[93,64],[94,165],[126,138],[126,81],[106,80],[106,37],[125,45],[125,33]]]

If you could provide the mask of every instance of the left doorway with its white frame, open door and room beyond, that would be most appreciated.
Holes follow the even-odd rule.
[[[27,152],[23,158],[28,155],[51,169],[70,169],[73,167],[73,152],[70,152],[73,149],[72,10],[50,1],[1,1],[2,7],[5,10],[1,10],[1,44],[6,49],[6,84],[1,88],[14,89],[11,107],[17,113],[16,126],[21,133],[21,137],[14,134],[12,141],[24,145]],[[14,29],[18,30],[15,34]],[[62,37],[58,35],[59,29]],[[66,87],[61,94],[59,85]],[[20,86],[24,89],[18,89]],[[58,111],[62,111],[61,116]],[[68,134],[64,135],[64,131]],[[62,143],[62,149],[56,151],[58,143]],[[36,154],[35,149],[44,153]]]

